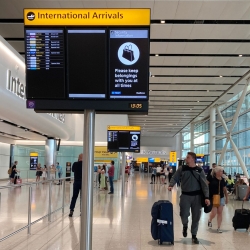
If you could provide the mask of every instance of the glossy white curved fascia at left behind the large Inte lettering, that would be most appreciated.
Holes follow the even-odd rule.
[[[74,130],[71,123],[71,115],[65,116],[65,123],[61,123],[48,114],[37,114],[33,110],[26,109],[26,102],[15,93],[7,89],[7,72],[11,71],[12,77],[18,77],[25,85],[24,58],[20,56],[0,36],[0,116],[10,122],[33,129],[49,136],[64,140],[70,139]],[[67,121],[68,120],[68,121]]]

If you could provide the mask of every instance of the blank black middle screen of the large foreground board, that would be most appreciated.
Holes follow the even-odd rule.
[[[68,29],[68,97],[107,96],[107,30]]]

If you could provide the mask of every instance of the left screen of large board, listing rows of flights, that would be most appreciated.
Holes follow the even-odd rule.
[[[25,29],[27,99],[65,98],[63,29]]]

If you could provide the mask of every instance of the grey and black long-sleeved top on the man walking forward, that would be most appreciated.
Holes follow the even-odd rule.
[[[191,171],[193,172],[194,176]],[[191,168],[189,166],[179,167],[171,178],[169,187],[173,187],[180,180],[182,193],[186,195],[196,195],[201,193],[202,188],[205,198],[209,198],[208,184],[202,168]]]

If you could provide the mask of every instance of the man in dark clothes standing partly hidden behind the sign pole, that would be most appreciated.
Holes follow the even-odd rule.
[[[79,192],[82,189],[82,157],[83,154],[80,154],[78,161],[73,163],[72,172],[74,172],[74,185],[73,185],[73,196],[70,203],[70,213],[69,217],[73,216],[76,200],[78,198]]]

